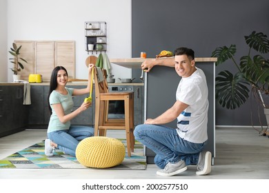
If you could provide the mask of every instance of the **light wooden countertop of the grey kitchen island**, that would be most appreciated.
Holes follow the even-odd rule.
[[[153,58],[150,58],[153,59]],[[121,65],[126,68],[141,68],[141,63],[146,59],[130,58],[130,59],[110,59],[111,63]],[[217,58],[195,58],[196,62],[216,62]]]

